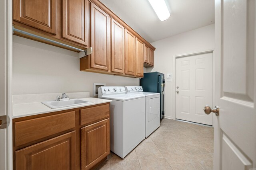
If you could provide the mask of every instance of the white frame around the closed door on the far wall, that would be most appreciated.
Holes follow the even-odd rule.
[[[193,55],[198,55],[198,54],[205,54],[205,53],[212,53],[212,82],[213,82],[213,86],[212,86],[212,104],[213,106],[215,106],[215,58],[214,58],[214,49],[210,49],[210,50],[205,50],[205,51],[196,51],[196,52],[191,52],[191,53],[183,53],[180,55],[174,55],[173,56],[173,119],[176,119],[176,59],[180,58],[180,57],[189,57],[189,56],[193,56]],[[204,109],[204,108],[202,108]],[[212,114],[213,116],[213,114]],[[212,127],[214,127],[214,118],[212,117]]]

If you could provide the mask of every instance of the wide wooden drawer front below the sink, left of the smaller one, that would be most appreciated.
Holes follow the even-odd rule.
[[[14,123],[15,146],[20,146],[75,127],[75,111]]]

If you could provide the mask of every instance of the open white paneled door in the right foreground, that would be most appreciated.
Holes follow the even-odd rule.
[[[256,168],[255,24],[254,0],[215,0],[215,170]]]

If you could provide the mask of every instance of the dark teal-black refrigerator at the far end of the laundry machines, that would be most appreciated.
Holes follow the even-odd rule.
[[[164,74],[160,72],[144,73],[140,79],[144,92],[160,93],[160,119],[164,117]]]

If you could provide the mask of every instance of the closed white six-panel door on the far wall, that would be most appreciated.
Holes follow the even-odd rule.
[[[176,119],[212,125],[212,52],[176,58]]]

